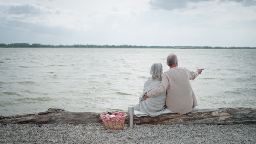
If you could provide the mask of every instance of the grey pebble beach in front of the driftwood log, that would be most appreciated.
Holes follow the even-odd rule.
[[[103,124],[0,124],[3,144],[255,144],[256,125],[134,125],[108,130]]]

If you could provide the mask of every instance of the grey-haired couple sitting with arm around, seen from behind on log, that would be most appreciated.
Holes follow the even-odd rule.
[[[170,69],[164,73],[161,63],[154,63],[151,66],[152,77],[145,82],[139,104],[134,106],[134,110],[154,117],[161,115],[166,107],[183,115],[198,106],[189,80],[194,80],[203,69],[192,72],[178,67],[178,58],[175,54],[168,55],[167,65]]]

